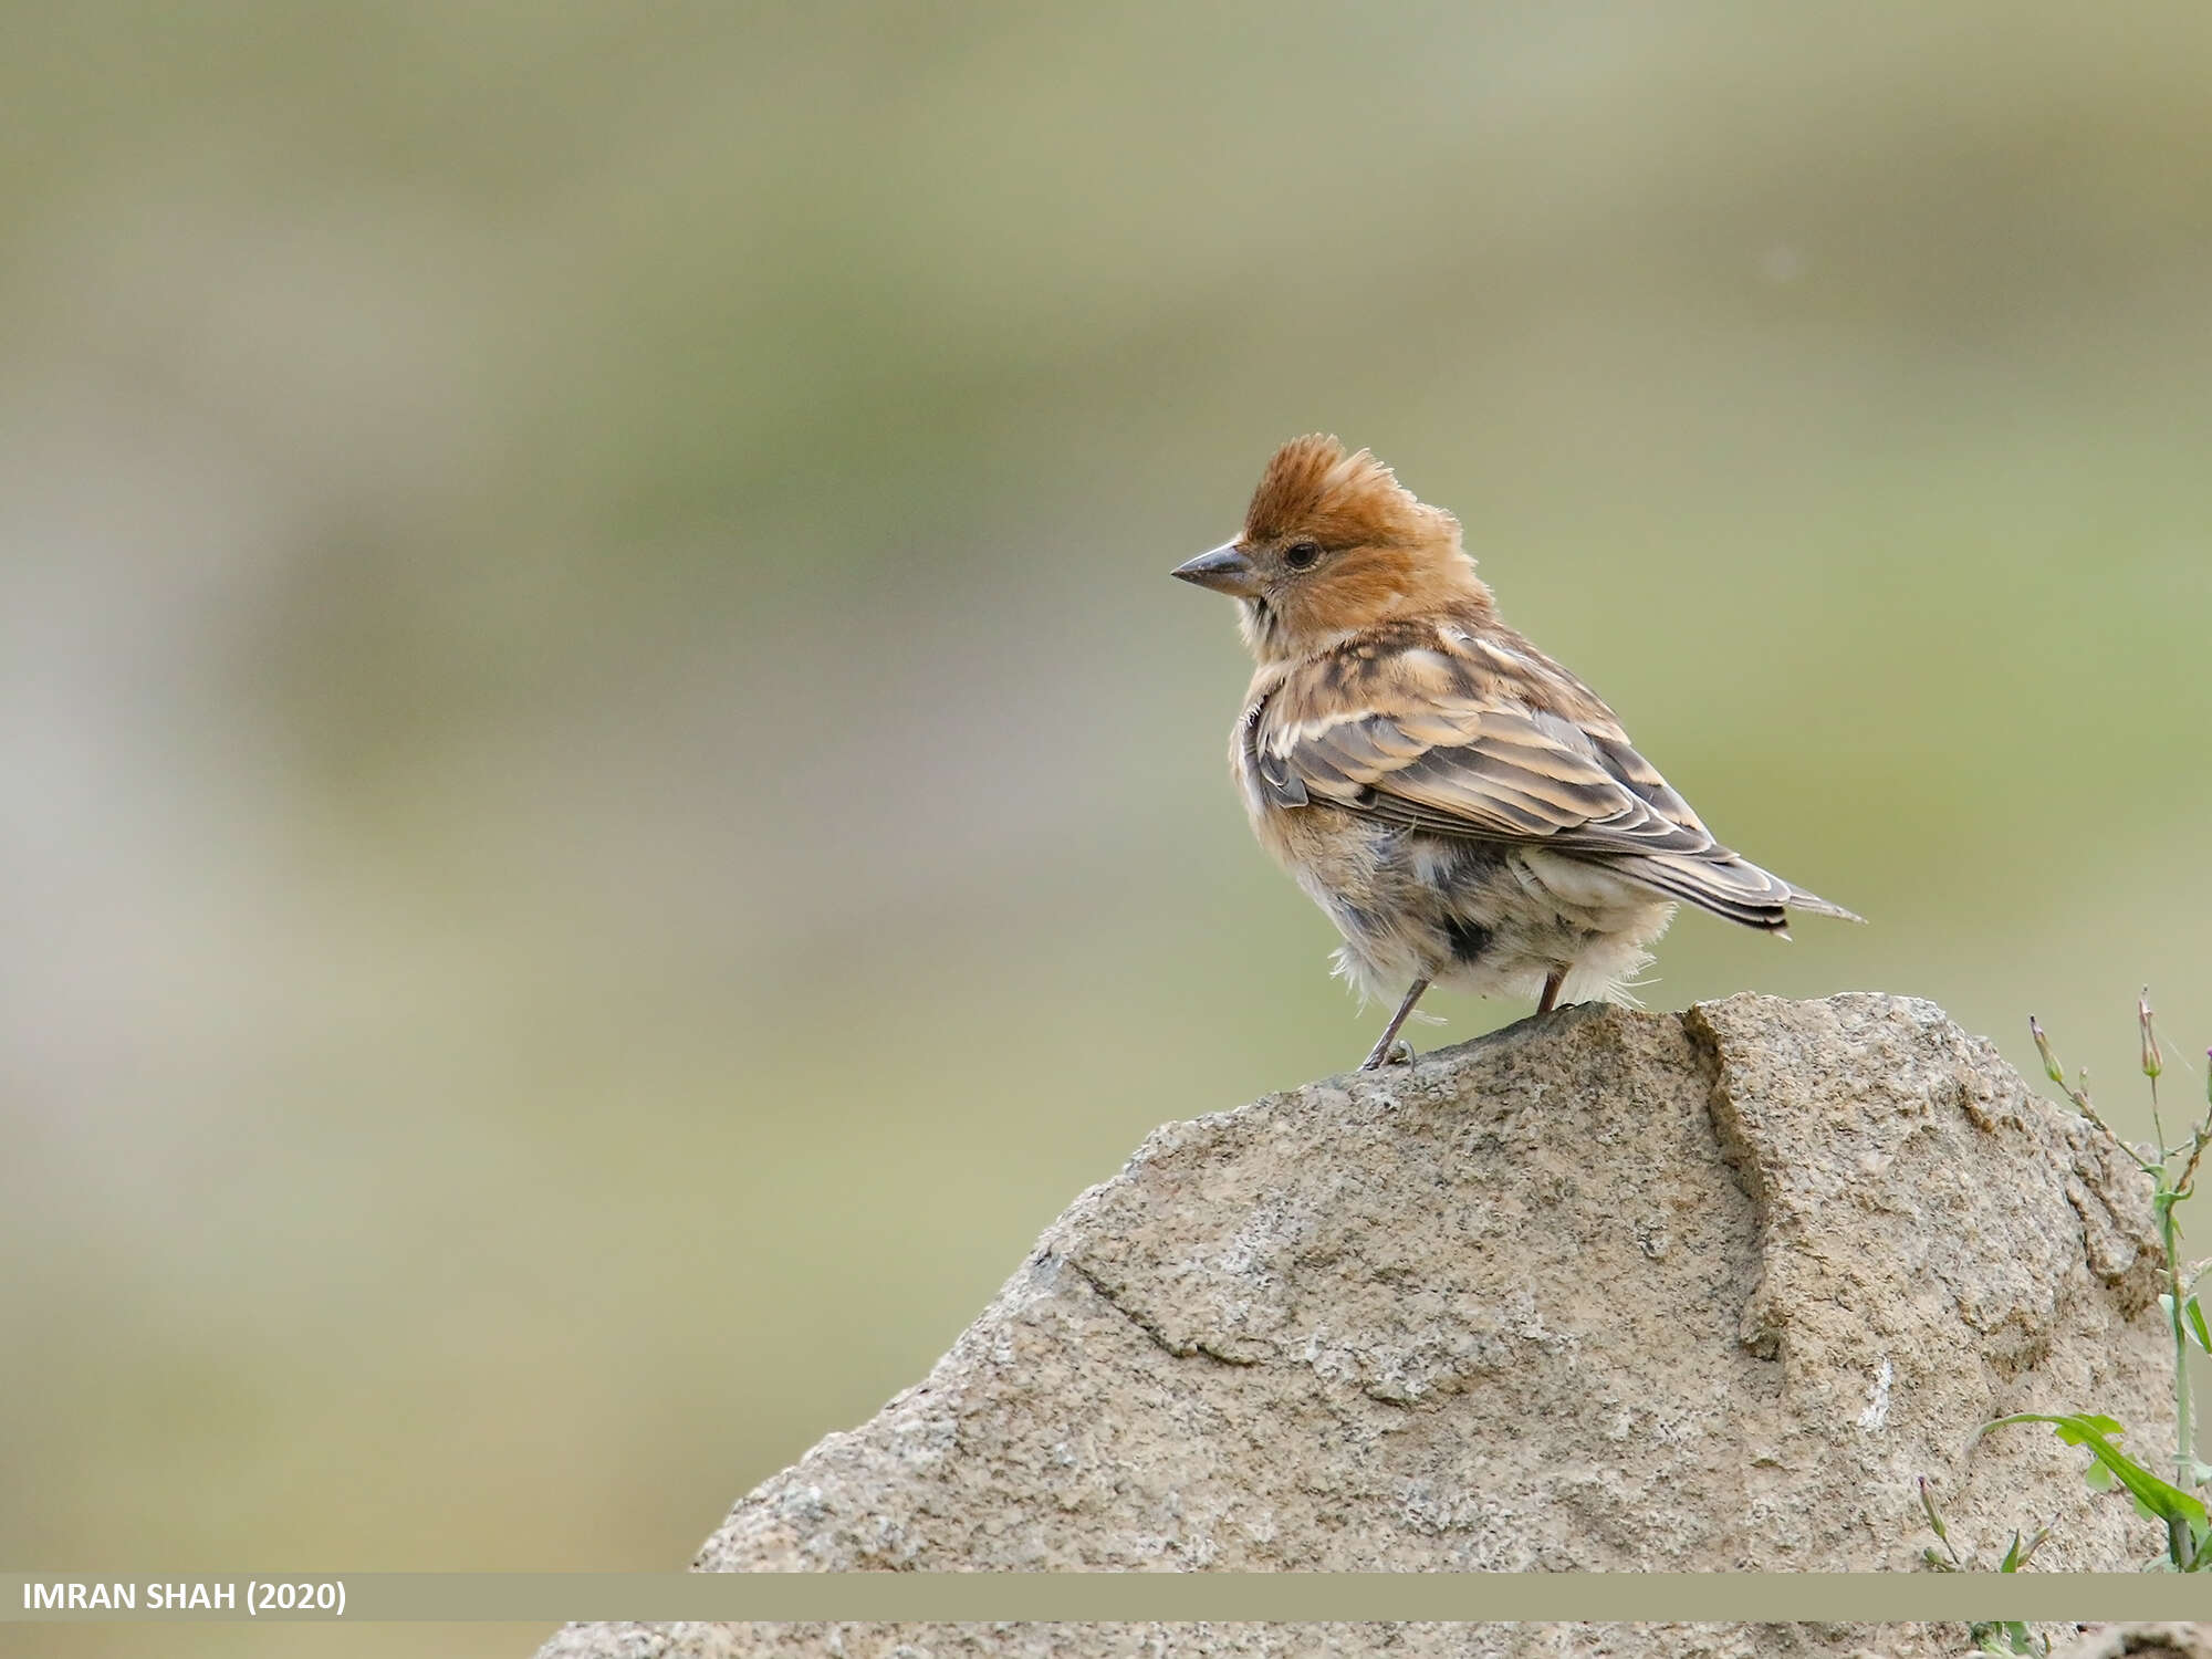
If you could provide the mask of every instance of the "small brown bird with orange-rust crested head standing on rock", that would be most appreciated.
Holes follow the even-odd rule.
[[[1610,708],[1498,615],[1460,520],[1329,434],[1267,460],[1243,529],[1172,571],[1237,599],[1256,672],[1230,772],[1336,931],[1360,1002],[1431,984],[1632,1002],[1679,900],[1790,938],[1858,922],[1723,847]]]

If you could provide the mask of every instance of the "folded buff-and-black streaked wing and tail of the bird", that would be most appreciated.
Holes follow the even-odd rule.
[[[1750,927],[1785,927],[1787,905],[1849,916],[1714,841],[1595,699],[1599,717],[1577,721],[1471,688],[1387,697],[1376,677],[1352,697],[1340,681],[1285,690],[1252,732],[1279,805],[1575,854]]]

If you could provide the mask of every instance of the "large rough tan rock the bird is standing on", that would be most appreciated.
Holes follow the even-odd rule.
[[[1911,1571],[1927,1475],[1953,1542],[2055,1522],[2037,1566],[2132,1568],[2154,1540],[2081,1453],[1973,1436],[2093,1407],[2154,1451],[2157,1272],[2143,1177],[1927,1002],[1568,1009],[1157,1130],[927,1380],[754,1489],[695,1566]],[[1044,1652],[1024,1630],[573,1626],[546,1652]],[[1051,1650],[1964,1646],[1084,1630]]]

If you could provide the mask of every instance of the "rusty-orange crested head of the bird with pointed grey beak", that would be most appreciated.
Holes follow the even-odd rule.
[[[1175,575],[1232,595],[1261,661],[1303,657],[1380,622],[1491,602],[1460,546],[1460,520],[1327,434],[1276,449],[1237,540]]]

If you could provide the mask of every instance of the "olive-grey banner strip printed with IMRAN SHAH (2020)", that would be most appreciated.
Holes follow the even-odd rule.
[[[2212,1577],[2170,1573],[0,1573],[0,1624],[2199,1617],[2212,1617]]]

